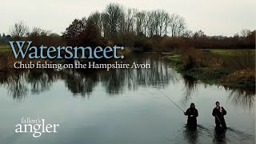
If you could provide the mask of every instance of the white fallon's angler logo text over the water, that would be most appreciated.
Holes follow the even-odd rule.
[[[16,125],[15,133],[33,133],[38,138],[42,133],[58,133],[59,124],[46,124],[45,119],[22,118],[22,122]]]

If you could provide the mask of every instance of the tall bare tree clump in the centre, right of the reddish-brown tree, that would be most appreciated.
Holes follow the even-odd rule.
[[[165,10],[136,10],[124,8],[115,3],[106,6],[106,10],[90,14],[88,19],[104,37],[134,33],[145,37],[164,36],[171,32],[172,37],[182,36],[186,31],[185,19],[178,14],[169,14]]]

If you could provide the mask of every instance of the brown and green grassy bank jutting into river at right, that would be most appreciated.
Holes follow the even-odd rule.
[[[200,50],[190,54],[195,56],[181,52],[166,58],[179,73],[202,82],[254,90],[255,50]]]

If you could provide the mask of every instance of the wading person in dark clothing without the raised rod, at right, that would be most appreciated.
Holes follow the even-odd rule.
[[[226,115],[226,110],[220,105],[219,102],[215,102],[215,105],[216,107],[214,108],[212,114],[215,117],[216,128],[222,126],[223,129],[226,129],[226,122],[224,118],[224,115]]]

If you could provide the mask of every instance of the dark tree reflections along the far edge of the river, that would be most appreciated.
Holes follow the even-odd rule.
[[[147,54],[149,55],[149,54]],[[125,90],[136,90],[138,87],[158,86],[164,88],[170,82],[180,80],[184,82],[183,103],[190,100],[190,96],[197,91],[198,81],[190,76],[177,74],[170,69],[165,59],[159,55],[143,55],[133,58],[135,62],[149,63],[150,69],[114,69],[106,70],[16,70],[0,75],[0,85],[5,86],[10,96],[18,100],[31,94],[40,94],[50,90],[54,82],[62,80],[66,88],[74,96],[89,97],[98,83],[102,83],[106,93],[110,96],[122,94]],[[229,99],[234,105],[244,108],[254,107],[255,90],[230,89]]]

